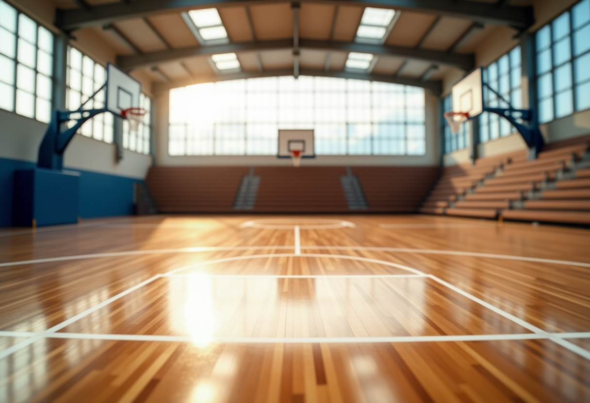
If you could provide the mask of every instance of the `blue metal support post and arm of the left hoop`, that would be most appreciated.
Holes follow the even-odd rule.
[[[76,134],[76,131],[94,116],[106,112],[106,108],[78,110],[78,111],[54,111],[51,117],[51,123],[45,131],[45,136],[39,146],[39,155],[37,166],[47,169],[63,169],[64,166],[64,151],[68,144]],[[73,127],[62,130],[65,122],[73,120],[70,115],[74,113],[81,114],[79,119],[76,119],[76,124]]]

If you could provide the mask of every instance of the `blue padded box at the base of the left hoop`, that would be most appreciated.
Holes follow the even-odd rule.
[[[80,215],[80,173],[51,169],[14,171],[14,224],[73,224]]]

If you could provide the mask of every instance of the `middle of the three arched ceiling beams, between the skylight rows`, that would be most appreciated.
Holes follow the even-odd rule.
[[[136,68],[152,67],[163,62],[182,60],[192,56],[211,56],[218,53],[257,52],[266,50],[294,49],[291,39],[280,41],[237,42],[224,45],[196,46],[164,51],[150,52],[142,55],[117,56],[117,65],[126,71]],[[358,44],[356,42],[314,41],[299,39],[299,49],[315,49],[323,51],[362,52],[375,55],[404,57],[412,60],[429,61],[432,63],[451,65],[463,70],[475,67],[473,55],[449,54],[429,49],[416,49],[389,45]]]

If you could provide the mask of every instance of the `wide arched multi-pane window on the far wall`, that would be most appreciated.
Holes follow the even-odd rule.
[[[276,155],[278,129],[314,129],[320,155],[423,155],[424,90],[291,76],[170,91],[169,154]]]

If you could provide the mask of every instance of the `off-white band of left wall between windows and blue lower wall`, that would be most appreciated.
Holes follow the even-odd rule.
[[[37,162],[39,144],[47,125],[0,109],[0,157]],[[64,166],[104,174],[144,179],[152,157],[124,150],[117,163],[114,144],[76,134],[64,154]]]

